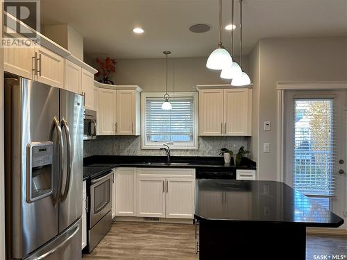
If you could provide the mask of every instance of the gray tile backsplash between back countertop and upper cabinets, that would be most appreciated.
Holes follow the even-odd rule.
[[[198,137],[198,150],[171,150],[176,156],[217,156],[223,147],[249,147],[250,137]],[[235,148],[234,149],[234,145]],[[92,155],[164,155],[162,150],[141,149],[141,137],[98,136],[84,141],[84,157]]]

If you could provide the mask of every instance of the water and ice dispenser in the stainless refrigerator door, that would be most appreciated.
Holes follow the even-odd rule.
[[[26,159],[26,201],[30,203],[53,192],[53,142],[28,144]]]

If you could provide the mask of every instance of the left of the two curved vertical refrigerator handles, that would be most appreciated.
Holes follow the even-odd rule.
[[[64,144],[62,143],[62,129],[60,128],[60,124],[56,116],[53,118],[52,126],[51,126],[51,132],[49,134],[49,139],[53,141],[53,132],[54,129],[57,130],[58,133],[58,146],[59,146],[59,184],[58,184],[58,191],[56,193],[56,198],[53,198],[53,205],[56,206],[58,204],[60,193],[62,191],[62,173],[63,173],[63,162],[62,162],[62,155],[64,151]],[[54,142],[53,142],[54,143]]]

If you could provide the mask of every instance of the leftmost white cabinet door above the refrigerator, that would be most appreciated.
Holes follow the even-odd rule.
[[[24,78],[33,79],[34,58],[35,49],[32,46],[3,48],[3,70]]]

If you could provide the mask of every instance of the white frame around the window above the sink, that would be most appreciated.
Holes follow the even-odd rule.
[[[174,144],[172,142],[153,142],[148,143],[146,140],[146,98],[162,98],[164,92],[142,92],[141,93],[141,148],[143,150],[151,149],[158,150],[163,147],[164,144],[170,146],[171,150],[198,150],[198,92],[169,92],[168,94],[172,98],[193,98],[193,141],[187,143]],[[163,98],[164,102],[164,98]]]

